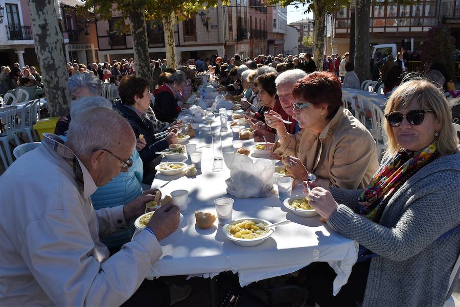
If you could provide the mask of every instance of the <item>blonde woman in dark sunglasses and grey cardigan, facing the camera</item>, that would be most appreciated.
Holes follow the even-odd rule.
[[[334,230],[356,240],[361,262],[332,296],[335,273],[320,264],[307,281],[320,306],[443,306],[459,270],[460,153],[451,110],[426,80],[400,85],[385,108],[387,151],[361,190],[318,186],[310,204]]]

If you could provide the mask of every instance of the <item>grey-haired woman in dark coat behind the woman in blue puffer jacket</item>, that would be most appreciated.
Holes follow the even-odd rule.
[[[68,78],[67,91],[72,99],[72,109],[74,107],[75,102],[79,100],[81,97],[101,96],[102,83],[97,76],[91,74],[75,74],[72,77]],[[68,130],[68,126],[70,125],[71,121],[71,114],[62,116],[56,123],[54,134],[64,135],[64,133]]]

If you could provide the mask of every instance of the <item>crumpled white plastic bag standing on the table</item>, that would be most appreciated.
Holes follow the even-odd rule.
[[[274,161],[236,154],[225,180],[227,193],[236,198],[267,197],[273,190]]]

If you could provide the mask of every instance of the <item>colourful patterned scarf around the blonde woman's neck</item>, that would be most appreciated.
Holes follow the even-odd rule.
[[[435,140],[420,151],[402,150],[390,158],[359,196],[360,214],[378,223],[388,200],[402,183],[438,157],[437,145]]]

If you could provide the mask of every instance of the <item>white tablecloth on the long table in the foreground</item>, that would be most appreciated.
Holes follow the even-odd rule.
[[[217,122],[218,117],[213,130],[220,129]],[[222,134],[224,152],[233,151],[231,129],[229,131]],[[189,142],[197,144],[197,150],[202,152],[201,172],[195,178],[157,174],[152,183],[152,187],[159,188],[163,195],[169,195],[174,190],[188,190],[190,203],[179,229],[160,242],[163,255],[155,262],[148,277],[212,277],[223,271],[234,271],[238,272],[241,286],[245,286],[253,281],[294,272],[312,262],[328,262],[338,274],[333,289],[334,294],[338,293],[356,262],[358,244],[321,223],[319,216],[302,218],[292,214],[283,206],[278,195],[265,199],[232,197],[235,199],[233,219],[254,217],[273,223],[291,220],[288,225],[277,227],[272,237],[259,246],[242,247],[226,240],[222,227],[216,227],[217,221],[216,226],[210,229],[195,226],[195,210],[215,213],[214,199],[229,197],[224,180],[229,177],[230,171],[225,164],[223,171],[212,171],[213,150],[206,147],[211,145],[211,137],[209,125],[205,122],[200,124],[196,137]],[[253,140],[245,140],[243,146],[253,144]],[[181,161],[191,163],[185,157]],[[297,186],[293,193],[302,194],[301,186]]]

